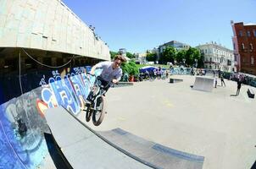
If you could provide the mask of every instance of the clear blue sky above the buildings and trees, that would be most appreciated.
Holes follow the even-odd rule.
[[[111,51],[145,52],[164,42],[232,49],[231,20],[256,23],[256,0],[63,0]]]

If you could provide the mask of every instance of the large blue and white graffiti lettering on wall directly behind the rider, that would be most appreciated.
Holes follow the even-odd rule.
[[[40,81],[42,86],[42,101],[37,101],[40,109],[47,107],[63,106],[69,112],[77,115],[84,109],[84,104],[90,92],[90,87],[95,81],[95,77],[86,74],[85,69],[74,68],[74,73],[61,75],[58,71],[53,71],[53,77],[48,81],[43,77]],[[101,70],[96,70],[96,74],[100,74]],[[47,82],[48,83],[47,83]],[[43,106],[44,105],[44,106]]]

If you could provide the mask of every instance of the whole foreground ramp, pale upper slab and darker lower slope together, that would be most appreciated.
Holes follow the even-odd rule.
[[[98,135],[61,106],[47,109],[45,116],[73,168],[203,168],[203,156],[154,144],[120,128]]]

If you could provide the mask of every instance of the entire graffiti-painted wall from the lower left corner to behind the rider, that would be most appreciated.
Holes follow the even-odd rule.
[[[42,165],[50,151],[45,139],[50,132],[43,112],[48,107],[64,106],[77,116],[95,81],[95,77],[86,74],[86,69],[90,70],[73,68],[64,75],[54,70],[48,79],[42,74],[36,89],[0,105],[0,168]],[[96,74],[100,72],[97,70]]]

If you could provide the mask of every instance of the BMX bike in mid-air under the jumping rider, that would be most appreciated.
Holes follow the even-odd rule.
[[[90,74],[95,76],[94,74]],[[95,76],[96,77],[96,76]],[[92,117],[92,123],[95,126],[100,125],[103,122],[103,118],[106,112],[105,110],[105,96],[106,89],[109,88],[111,82],[108,85],[103,86],[99,77],[96,77],[94,85],[91,87],[91,91],[87,97],[87,103],[85,107],[86,111],[86,122],[89,122]]]

